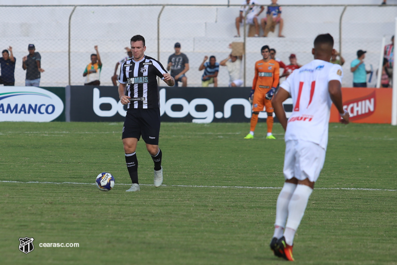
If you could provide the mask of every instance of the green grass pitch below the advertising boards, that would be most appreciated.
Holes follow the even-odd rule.
[[[1,265],[284,264],[268,244],[285,143],[266,124],[162,123],[163,186],[138,143],[130,178],[122,123],[0,124]],[[115,187],[93,185],[110,172]],[[38,183],[28,183],[38,181]],[[62,183],[71,182],[71,183]],[[297,264],[397,265],[397,128],[330,124],[324,168],[297,231]],[[18,250],[20,237],[35,249]],[[40,243],[79,243],[44,248]]]

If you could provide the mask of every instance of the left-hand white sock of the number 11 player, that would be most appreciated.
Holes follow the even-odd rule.
[[[277,206],[276,206],[276,222],[274,223],[274,235],[273,237],[281,238],[283,236],[283,230],[285,227],[285,222],[288,216],[288,204],[296,184],[290,182],[284,182],[284,186],[278,194]]]

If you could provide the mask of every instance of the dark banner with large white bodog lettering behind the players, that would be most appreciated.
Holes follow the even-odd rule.
[[[169,122],[249,122],[251,88],[160,88],[161,121]],[[68,86],[66,121],[124,121],[126,106],[117,87]],[[287,117],[292,100],[284,102]],[[267,118],[266,112],[259,113]]]

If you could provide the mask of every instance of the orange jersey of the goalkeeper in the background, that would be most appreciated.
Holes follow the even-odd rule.
[[[270,59],[268,62],[259,60],[255,63],[255,77],[252,82],[252,89],[262,90],[277,88],[280,79],[280,66],[278,62]]]

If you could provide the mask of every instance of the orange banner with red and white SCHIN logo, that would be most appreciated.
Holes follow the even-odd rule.
[[[390,88],[342,88],[343,108],[355,123],[391,123],[392,90]],[[329,122],[338,122],[339,111],[332,104]]]

